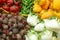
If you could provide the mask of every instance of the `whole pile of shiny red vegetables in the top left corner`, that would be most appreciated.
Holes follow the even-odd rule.
[[[18,13],[22,7],[21,2],[22,0],[0,0],[0,7],[9,12]]]

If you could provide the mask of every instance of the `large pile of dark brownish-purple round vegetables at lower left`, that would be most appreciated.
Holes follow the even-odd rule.
[[[0,40],[25,40],[29,28],[21,15],[0,13]]]

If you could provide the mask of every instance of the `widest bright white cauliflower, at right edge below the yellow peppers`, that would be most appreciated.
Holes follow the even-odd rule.
[[[59,30],[60,24],[56,19],[44,20],[47,29]]]

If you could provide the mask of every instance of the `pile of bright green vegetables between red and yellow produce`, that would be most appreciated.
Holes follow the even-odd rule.
[[[32,12],[33,1],[34,0],[22,0],[22,9],[20,14],[29,14]]]

